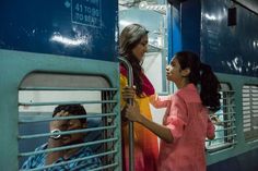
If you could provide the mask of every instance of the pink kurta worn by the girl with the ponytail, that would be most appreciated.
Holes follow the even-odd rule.
[[[156,108],[166,107],[163,125],[171,129],[174,143],[161,141],[160,171],[206,171],[204,142],[214,135],[209,111],[194,84],[167,97],[155,97]]]

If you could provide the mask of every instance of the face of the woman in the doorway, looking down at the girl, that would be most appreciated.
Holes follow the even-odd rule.
[[[148,35],[141,38],[141,41],[132,49],[132,53],[141,61],[148,51]]]

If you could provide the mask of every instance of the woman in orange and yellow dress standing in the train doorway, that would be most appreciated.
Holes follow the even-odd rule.
[[[139,110],[144,118],[152,120],[149,97],[154,95],[154,88],[145,76],[142,62],[148,50],[148,30],[139,25],[126,26],[119,37],[120,56],[125,57],[131,64],[133,71],[133,84],[136,85],[134,100],[139,103]],[[120,87],[128,85],[127,70],[120,65]],[[121,101],[121,109],[125,111],[126,102]],[[134,123],[134,170],[156,171],[157,164],[157,137],[148,129]],[[128,121],[122,123],[122,149],[124,149],[124,171],[129,170],[129,139]]]

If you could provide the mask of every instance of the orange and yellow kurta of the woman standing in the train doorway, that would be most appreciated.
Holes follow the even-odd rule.
[[[120,89],[128,85],[127,77],[120,74]],[[136,98],[140,111],[148,119],[152,120],[149,97]],[[121,109],[126,102],[121,99]],[[157,137],[139,123],[133,124],[134,129],[134,170],[156,171],[157,170]],[[129,171],[129,130],[128,123],[122,123],[122,150],[124,171]]]

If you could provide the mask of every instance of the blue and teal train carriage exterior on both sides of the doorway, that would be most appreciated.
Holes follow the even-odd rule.
[[[222,124],[216,138],[206,143],[208,171],[257,171],[258,1],[157,2],[166,5],[166,61],[179,50],[195,51],[221,82],[222,108],[215,114]],[[96,114],[89,125],[98,129],[89,132],[98,131],[99,137],[90,139],[101,144],[93,147],[104,163],[98,170],[120,171],[117,45],[125,13],[119,13],[118,0],[2,0],[0,14],[0,167],[19,170],[34,145],[48,136],[42,134],[48,132],[47,124],[36,122],[51,120],[45,118],[50,113],[45,107],[63,102],[61,98],[72,102],[68,97],[80,90],[85,98],[74,95],[74,99],[80,97],[79,102]],[[30,91],[59,98],[26,101]],[[37,129],[32,131],[32,125]]]

